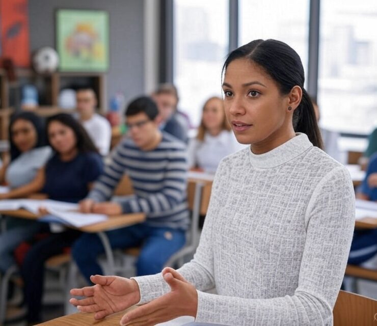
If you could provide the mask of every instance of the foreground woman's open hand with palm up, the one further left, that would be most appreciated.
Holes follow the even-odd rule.
[[[95,312],[95,319],[102,319],[140,301],[139,285],[135,280],[100,275],[91,276],[90,279],[95,285],[70,291],[72,295],[86,297],[80,300],[71,298],[69,302],[79,311]]]

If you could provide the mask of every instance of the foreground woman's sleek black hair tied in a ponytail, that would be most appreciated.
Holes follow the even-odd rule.
[[[249,59],[264,69],[275,80],[282,94],[288,94],[294,86],[301,87],[302,99],[293,113],[294,131],[306,133],[314,146],[323,148],[313,104],[304,89],[304,68],[297,52],[277,40],[255,40],[230,52],[223,72],[233,60],[241,58]]]

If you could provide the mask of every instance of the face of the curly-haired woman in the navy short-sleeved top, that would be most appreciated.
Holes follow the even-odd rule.
[[[70,127],[59,121],[51,121],[47,128],[48,141],[58,153],[67,154],[76,147],[76,136]]]

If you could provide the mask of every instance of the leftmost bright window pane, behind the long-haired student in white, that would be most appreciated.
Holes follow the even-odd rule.
[[[211,96],[221,96],[221,69],[228,53],[228,0],[174,1],[174,84],[178,107],[193,125]]]

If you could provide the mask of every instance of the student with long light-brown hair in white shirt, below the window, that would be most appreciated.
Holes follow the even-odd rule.
[[[223,99],[210,97],[203,106],[198,134],[189,143],[189,168],[214,173],[222,158],[243,147],[226,120]]]

